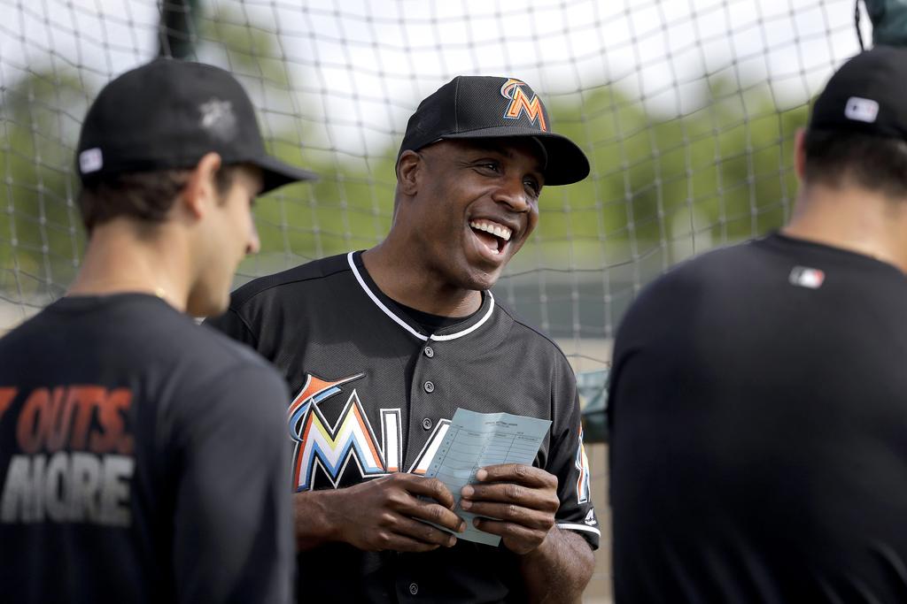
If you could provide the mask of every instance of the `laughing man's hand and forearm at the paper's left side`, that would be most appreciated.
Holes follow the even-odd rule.
[[[324,541],[346,542],[359,550],[431,551],[456,543],[452,534],[417,518],[455,532],[466,528],[452,511],[453,495],[444,483],[424,476],[393,474],[336,491],[297,494],[301,549],[307,549],[305,525],[311,522],[306,510],[316,499],[320,500],[320,515],[327,521]]]

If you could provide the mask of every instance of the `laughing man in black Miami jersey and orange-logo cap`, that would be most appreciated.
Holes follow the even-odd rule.
[[[541,187],[588,173],[524,82],[455,78],[409,121],[385,241],[249,283],[214,321],[297,393],[300,602],[580,598],[599,529],[573,373],[488,290]],[[552,422],[532,466],[486,467],[463,492],[497,519],[478,526],[498,547],[419,522],[463,530],[453,494],[422,476],[457,407]]]

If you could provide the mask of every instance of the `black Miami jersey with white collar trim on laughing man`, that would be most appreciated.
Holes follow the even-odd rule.
[[[558,526],[598,545],[571,367],[490,293],[473,316],[428,333],[351,253],[253,281],[212,322],[288,379],[297,491],[424,474],[457,407],[541,417],[552,425],[534,463],[558,476]],[[503,546],[401,553],[331,543],[298,563],[299,601],[525,600]]]

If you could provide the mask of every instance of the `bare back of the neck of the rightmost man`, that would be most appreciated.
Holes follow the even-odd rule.
[[[804,187],[782,233],[871,256],[907,273],[907,200],[862,187]]]

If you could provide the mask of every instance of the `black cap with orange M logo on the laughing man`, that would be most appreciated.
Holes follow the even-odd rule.
[[[589,159],[571,139],[551,131],[548,110],[529,84],[485,75],[458,75],[419,103],[397,160],[438,140],[505,137],[532,137],[541,145],[546,185],[589,176]]]

